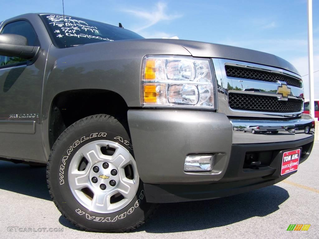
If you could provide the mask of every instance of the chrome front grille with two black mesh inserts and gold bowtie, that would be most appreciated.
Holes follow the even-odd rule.
[[[218,89],[218,112],[229,117],[287,118],[303,111],[304,90],[298,74],[280,67],[229,59],[213,58],[212,62]],[[278,89],[285,88],[279,88],[283,84],[288,85],[290,93],[282,90],[278,93]]]

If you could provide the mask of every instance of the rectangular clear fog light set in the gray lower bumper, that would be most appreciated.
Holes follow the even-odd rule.
[[[210,171],[212,155],[188,155],[185,158],[184,171]]]

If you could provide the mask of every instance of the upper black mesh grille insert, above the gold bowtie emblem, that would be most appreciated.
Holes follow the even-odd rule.
[[[226,75],[237,78],[253,79],[268,82],[285,81],[287,85],[302,87],[301,81],[289,76],[282,76],[277,73],[271,73],[261,70],[254,70],[243,67],[225,66]]]

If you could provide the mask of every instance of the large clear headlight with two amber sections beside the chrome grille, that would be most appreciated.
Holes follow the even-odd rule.
[[[215,109],[210,59],[145,56],[141,80],[143,106]]]

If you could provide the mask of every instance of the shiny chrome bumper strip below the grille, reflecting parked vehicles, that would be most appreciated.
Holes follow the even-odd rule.
[[[233,126],[233,144],[294,141],[315,134],[315,120],[308,114],[294,119],[237,118],[230,122]]]

